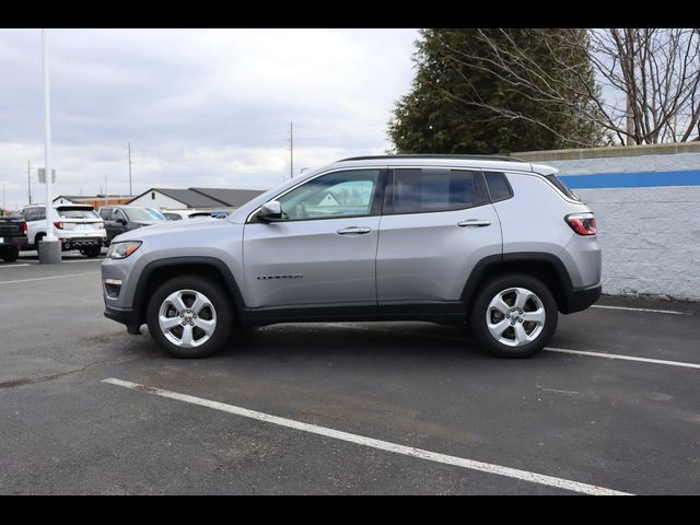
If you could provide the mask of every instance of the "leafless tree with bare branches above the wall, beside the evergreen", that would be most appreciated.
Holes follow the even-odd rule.
[[[557,68],[542,67],[541,56],[523,50],[505,30],[495,30],[495,34],[494,30],[475,30],[490,51],[487,56],[445,43],[445,63],[459,71],[466,67],[488,72],[508,90],[547,104],[553,112],[575,113],[604,129],[610,143],[700,140],[700,30],[529,31],[550,51],[547,60]],[[595,84],[582,74],[591,67]],[[486,104],[476,89],[451,96],[501,117],[532,118]],[[565,140],[596,145],[582,144],[576,137]]]

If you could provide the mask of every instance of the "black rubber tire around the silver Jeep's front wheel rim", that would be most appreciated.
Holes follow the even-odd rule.
[[[210,339],[195,348],[183,348],[172,341],[161,330],[159,311],[168,295],[179,290],[192,290],[206,295],[215,311],[217,325]],[[191,304],[187,304],[191,306]],[[208,279],[196,276],[176,277],[161,284],[151,296],[147,310],[147,324],[153,340],[165,352],[179,359],[200,359],[213,355],[231,340],[235,315],[228,295]],[[182,336],[180,336],[182,337]]]

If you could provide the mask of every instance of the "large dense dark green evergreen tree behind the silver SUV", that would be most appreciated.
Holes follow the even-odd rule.
[[[526,28],[422,30],[411,91],[389,122],[395,151],[503,154],[602,144],[603,128],[588,117],[596,108],[585,94],[597,88],[587,55],[560,42],[560,30],[538,31],[546,37]],[[542,95],[533,84],[555,92]]]

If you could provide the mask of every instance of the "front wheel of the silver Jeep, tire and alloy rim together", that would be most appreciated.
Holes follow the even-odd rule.
[[[233,311],[229,298],[207,279],[178,277],[162,284],[147,311],[153,340],[175,358],[205,358],[231,338]]]

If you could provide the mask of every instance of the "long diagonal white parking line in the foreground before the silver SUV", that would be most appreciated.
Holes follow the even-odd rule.
[[[448,456],[446,454],[440,454],[435,452],[424,451],[421,448],[415,448],[412,446],[398,445],[396,443],[389,443],[388,441],[375,440],[373,438],[365,438],[363,435],[351,434],[349,432],[342,432],[339,430],[328,429],[326,427],[318,427],[317,424],[302,423],[292,419],[279,418],[277,416],[270,416],[269,413],[258,412],[255,410],[248,410],[247,408],[241,408],[233,405],[226,405],[224,402],[210,401],[201,397],[188,396],[186,394],[178,394],[176,392],[163,390],[161,388],[154,388],[150,386],[140,385],[139,383],[131,383],[130,381],[122,381],[117,378],[102,380],[103,383],[109,383],[112,385],[124,386],[132,390],[145,392],[155,396],[166,397],[168,399],[176,399],[178,401],[189,402],[191,405],[198,405],[201,407],[212,408],[214,410],[221,410],[223,412],[242,416],[244,418],[255,419],[264,421],[266,423],[272,423],[280,427],[287,427],[289,429],[301,430],[303,432],[310,432],[312,434],[324,435],[326,438],[332,438],[334,440],[347,441],[363,446],[371,446],[381,451],[394,452],[396,454],[402,454],[405,456],[418,457],[421,459],[428,459],[430,462],[442,463],[445,465],[454,465],[456,467],[467,468],[470,470],[479,470],[481,472],[495,474],[499,476],[505,476],[509,478],[521,479],[533,483],[545,485],[547,487],[555,487],[557,489],[570,490],[573,492],[580,492],[583,494],[594,495],[630,495],[627,492],[619,492],[617,490],[610,490],[603,487],[596,487],[593,485],[580,483],[578,481],[571,481],[569,479],[555,478],[552,476],[545,476],[541,474],[529,472],[527,470],[520,470],[516,468],[502,467],[490,463],[475,462],[474,459],[466,459],[464,457]]]

